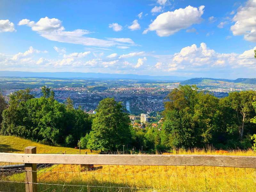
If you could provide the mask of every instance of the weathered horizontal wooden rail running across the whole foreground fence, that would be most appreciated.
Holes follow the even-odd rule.
[[[0,153],[0,162],[100,165],[195,165],[256,168],[256,156],[222,155],[60,155]]]

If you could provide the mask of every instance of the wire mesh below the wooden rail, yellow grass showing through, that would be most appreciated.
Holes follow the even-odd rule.
[[[0,191],[25,191],[29,171],[1,163]],[[125,164],[125,162],[124,162]],[[256,189],[256,169],[219,166],[80,165],[37,167],[37,191],[246,191]]]

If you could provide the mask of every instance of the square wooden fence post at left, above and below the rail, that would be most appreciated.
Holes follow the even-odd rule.
[[[25,154],[36,154],[36,147],[26,147]],[[26,192],[37,192],[36,163],[25,163]]]

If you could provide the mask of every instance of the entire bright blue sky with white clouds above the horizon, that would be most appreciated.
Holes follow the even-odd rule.
[[[0,4],[0,70],[255,77],[256,0]]]

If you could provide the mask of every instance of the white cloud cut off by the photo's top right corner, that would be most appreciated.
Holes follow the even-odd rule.
[[[234,36],[243,35],[246,41],[256,42],[256,0],[249,0],[240,6],[230,27]]]

